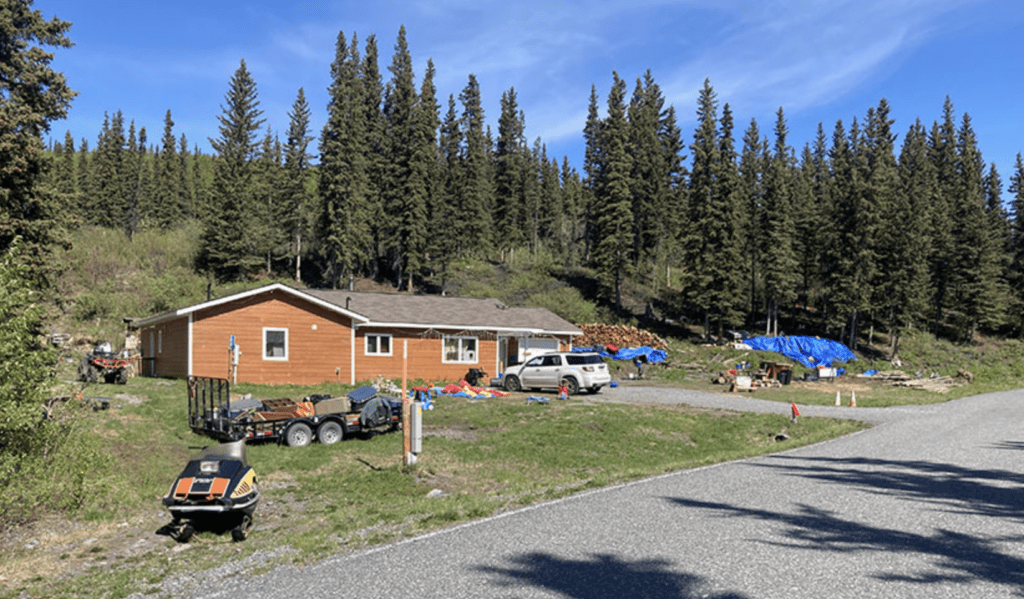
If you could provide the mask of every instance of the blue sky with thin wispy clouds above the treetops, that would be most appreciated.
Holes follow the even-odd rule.
[[[772,135],[781,106],[790,144],[830,136],[885,97],[902,134],[914,119],[942,116],[948,95],[957,125],[971,116],[987,163],[1006,183],[1024,153],[1024,10],[1016,0],[488,0],[236,2],[36,0],[47,16],[73,23],[76,44],[54,68],[79,92],[67,121],[90,146],[103,113],[122,111],[158,143],[171,111],[176,135],[209,153],[228,80],[240,60],[258,86],[267,125],[285,136],[300,87],[318,136],[339,32],[377,37],[385,79],[406,26],[422,80],[436,68],[438,102],[480,83],[497,132],[499,99],[514,87],[529,141],[581,169],[592,85],[603,109],[611,73],[629,84],[650,70],[692,139],[696,94],[710,79],[736,121],[737,146],[756,119]]]

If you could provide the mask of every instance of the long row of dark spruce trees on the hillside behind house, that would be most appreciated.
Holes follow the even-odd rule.
[[[770,135],[752,119],[737,138],[706,81],[686,137],[650,72],[632,92],[613,73],[603,110],[591,89],[581,173],[525,138],[514,88],[497,134],[472,75],[442,109],[432,62],[417,86],[403,28],[388,72],[374,36],[360,46],[339,33],[327,123],[314,137],[299,89],[282,140],[243,60],[212,156],[175,136],[170,112],[153,146],[118,112],[95,147],[70,133],[52,144],[49,181],[82,222],[129,236],[200,220],[197,267],[218,281],[370,276],[413,290],[430,277],[443,289],[454,260],[546,252],[593,268],[612,305],[638,282],[667,291],[666,309],[709,333],[757,323],[776,334],[797,310],[851,344],[884,327],[893,351],[911,327],[1021,332],[1024,165],[1018,156],[1005,204],[948,97],[898,147],[882,99],[797,148],[781,108]]]

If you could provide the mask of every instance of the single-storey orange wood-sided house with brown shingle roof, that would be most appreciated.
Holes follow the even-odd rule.
[[[583,332],[496,299],[295,289],[273,284],[135,322],[144,376],[355,384],[378,376],[494,376]]]

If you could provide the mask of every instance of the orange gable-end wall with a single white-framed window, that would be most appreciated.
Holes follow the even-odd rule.
[[[264,328],[288,331],[287,359],[265,359]],[[230,338],[241,350],[238,381],[314,385],[347,383],[351,375],[349,318],[273,291],[196,312],[193,374],[231,378]]]

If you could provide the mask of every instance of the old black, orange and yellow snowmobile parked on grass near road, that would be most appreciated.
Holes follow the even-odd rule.
[[[197,528],[230,529],[232,540],[245,541],[258,502],[245,440],[202,447],[164,498],[173,520],[162,530],[179,543],[187,543]]]

